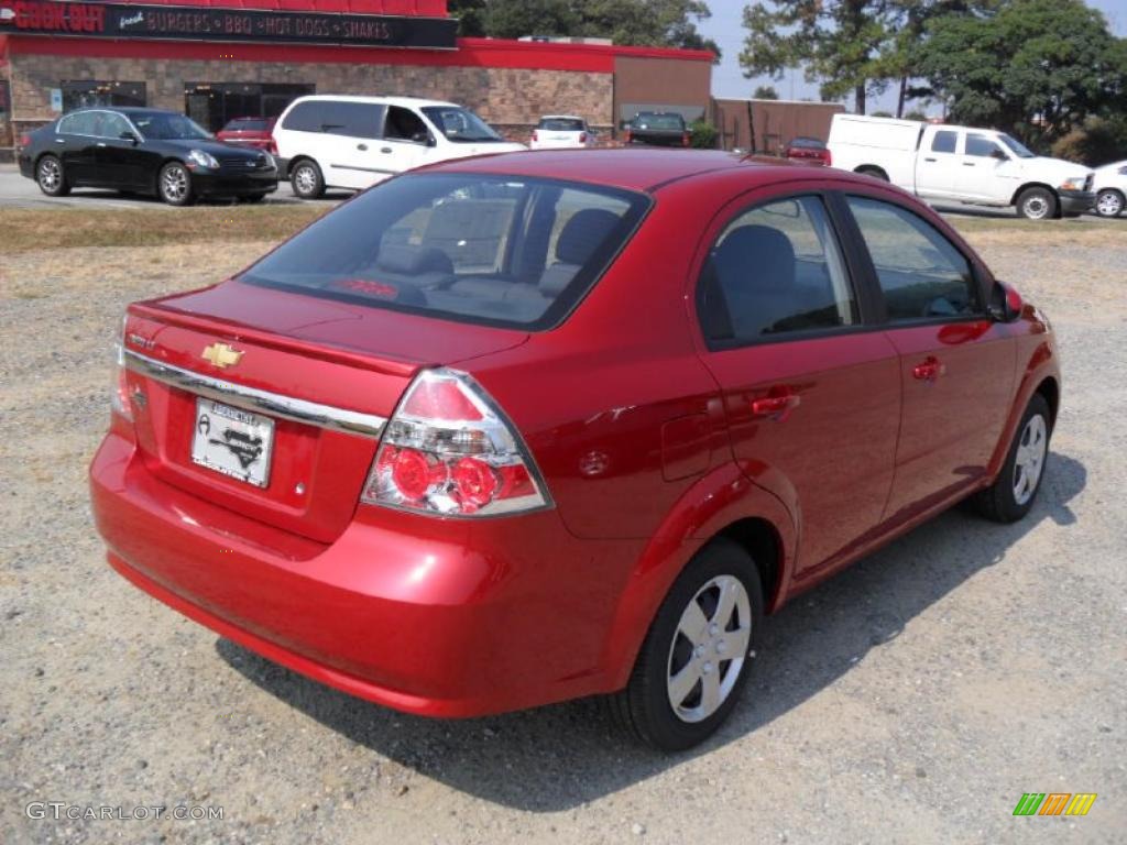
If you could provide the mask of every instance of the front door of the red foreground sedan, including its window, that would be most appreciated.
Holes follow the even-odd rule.
[[[1017,349],[986,313],[975,264],[940,229],[888,197],[851,195],[899,354],[904,395],[886,519],[909,519],[979,481],[1012,395]]]

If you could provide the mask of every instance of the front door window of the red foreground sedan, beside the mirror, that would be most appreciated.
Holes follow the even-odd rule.
[[[872,258],[891,322],[982,313],[970,263],[931,223],[879,199],[851,196],[848,203]]]

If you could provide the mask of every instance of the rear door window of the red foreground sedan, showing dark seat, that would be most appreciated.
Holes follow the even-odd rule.
[[[733,220],[709,254],[698,312],[710,340],[737,345],[859,322],[820,197],[775,201]]]

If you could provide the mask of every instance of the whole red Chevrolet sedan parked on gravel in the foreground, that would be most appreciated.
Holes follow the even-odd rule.
[[[680,749],[765,614],[967,497],[1026,515],[1057,364],[873,179],[465,159],[131,305],[94,510],[141,589],[328,685],[435,717],[605,694]]]

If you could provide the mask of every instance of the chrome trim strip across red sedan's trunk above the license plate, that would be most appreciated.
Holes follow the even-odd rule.
[[[380,439],[383,427],[388,424],[385,417],[361,411],[349,411],[330,404],[320,404],[304,399],[272,393],[267,390],[233,384],[222,379],[181,370],[171,364],[153,361],[147,355],[140,355],[132,349],[125,349],[125,366],[134,373],[148,376],[174,388],[214,399],[218,402],[243,408],[248,411],[265,413],[270,417],[304,422],[305,425],[327,428],[361,437]]]

